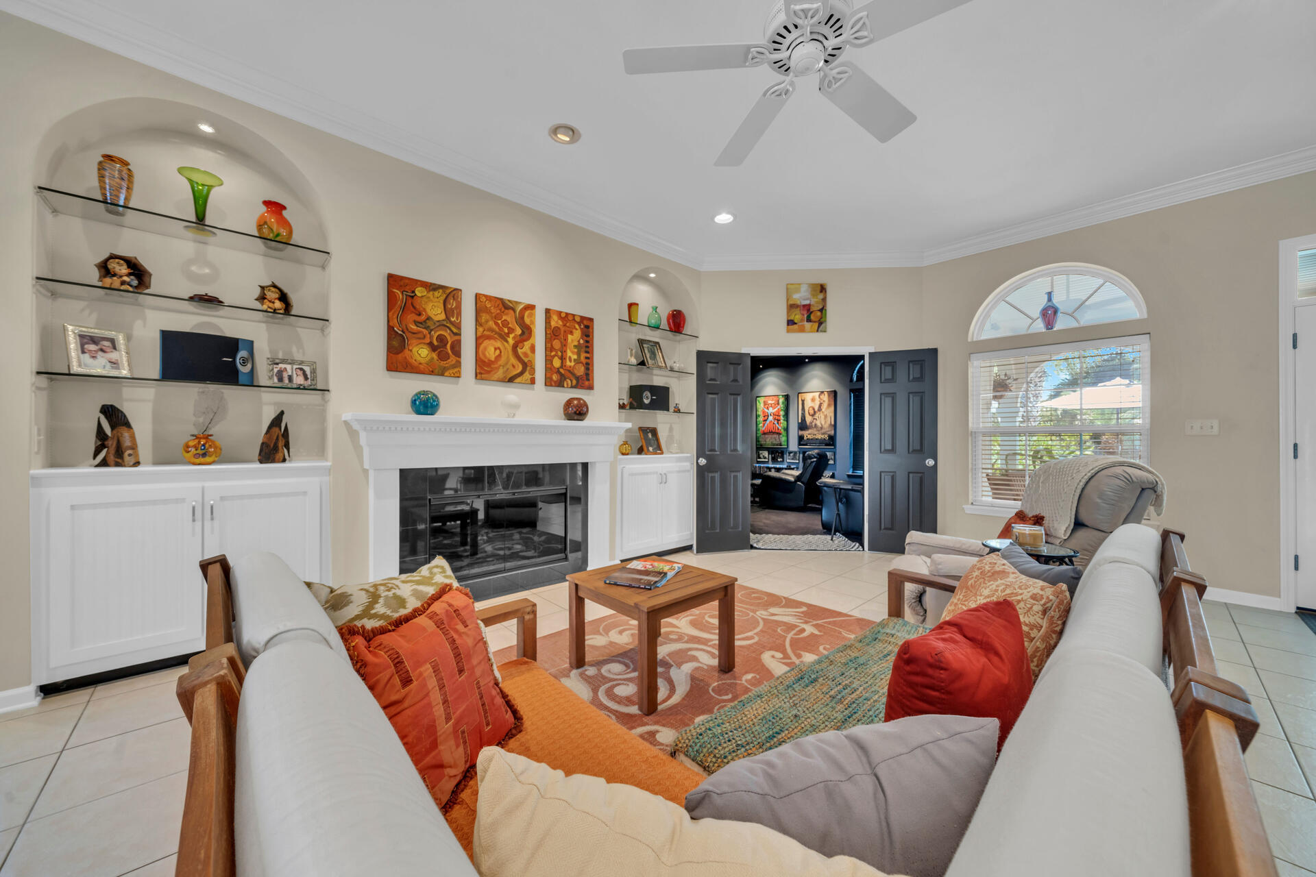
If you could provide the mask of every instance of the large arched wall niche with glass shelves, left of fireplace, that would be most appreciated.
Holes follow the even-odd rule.
[[[101,154],[129,162],[134,179],[128,210],[99,204]],[[205,226],[216,229],[209,235],[184,229],[195,222],[180,166],[224,180],[207,206]],[[224,444],[220,464],[254,462],[266,425],[279,410],[286,412],[293,459],[325,458],[328,394],[258,387],[268,380],[270,358],[313,362],[317,387],[332,381],[329,235],[315,188],[278,147],[199,107],[120,99],[53,125],[37,151],[32,183],[39,430],[33,468],[87,464],[96,414],[107,402],[132,421],[143,464],[183,463],[182,444],[196,429],[197,384],[43,377],[41,372],[68,371],[66,323],[124,333],[133,376],[149,379],[161,376],[161,330],[250,339],[257,387],[220,387],[229,409],[213,430]],[[287,206],[293,246],[255,237],[263,200]],[[95,263],[111,252],[136,256],[150,270],[150,295],[99,288]],[[288,293],[291,317],[261,309],[257,293],[268,283]],[[225,306],[188,300],[197,293]]]

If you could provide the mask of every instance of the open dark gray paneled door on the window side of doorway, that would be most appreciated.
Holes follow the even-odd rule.
[[[911,530],[937,530],[937,351],[869,354],[869,551],[904,552]]]

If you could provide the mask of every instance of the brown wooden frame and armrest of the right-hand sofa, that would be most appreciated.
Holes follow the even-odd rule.
[[[1188,830],[1195,877],[1278,877],[1252,793],[1242,753],[1259,721],[1242,686],[1221,678],[1211,651],[1202,596],[1207,580],[1192,572],[1184,534],[1161,533],[1161,627],[1174,671],[1174,703],[1188,788]],[[887,614],[904,618],[905,585],[954,593],[954,579],[892,569]]]

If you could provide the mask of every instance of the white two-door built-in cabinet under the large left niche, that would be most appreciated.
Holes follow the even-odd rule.
[[[272,551],[328,579],[328,463],[36,469],[30,486],[38,685],[204,648],[203,557]]]

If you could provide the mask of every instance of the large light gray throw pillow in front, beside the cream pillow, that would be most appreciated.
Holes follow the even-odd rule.
[[[824,856],[941,877],[996,764],[996,719],[912,715],[732,761],[686,795],[696,819],[755,822]]]

